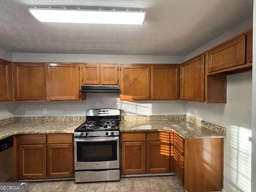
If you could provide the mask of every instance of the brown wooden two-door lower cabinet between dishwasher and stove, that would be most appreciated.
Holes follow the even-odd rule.
[[[72,134],[16,135],[15,143],[17,180],[73,176]]]

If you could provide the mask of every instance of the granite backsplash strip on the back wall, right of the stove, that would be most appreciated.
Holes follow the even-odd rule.
[[[121,121],[186,120],[186,115],[124,115]]]

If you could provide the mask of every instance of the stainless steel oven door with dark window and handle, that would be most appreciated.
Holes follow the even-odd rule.
[[[75,170],[120,168],[119,137],[75,138]]]

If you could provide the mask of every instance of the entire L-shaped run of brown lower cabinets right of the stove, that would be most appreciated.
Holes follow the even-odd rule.
[[[122,173],[174,172],[189,192],[221,191],[223,138],[183,139],[173,132],[121,134]]]

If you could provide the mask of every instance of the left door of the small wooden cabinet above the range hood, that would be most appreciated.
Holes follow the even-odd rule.
[[[99,85],[100,84],[100,65],[99,64],[82,64],[81,65],[81,84],[82,85]]]

